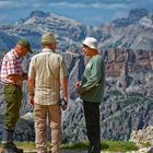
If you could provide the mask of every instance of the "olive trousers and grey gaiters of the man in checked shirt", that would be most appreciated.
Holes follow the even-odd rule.
[[[20,117],[20,108],[22,105],[22,89],[15,85],[4,85],[4,101],[7,110],[4,117],[3,141],[11,141],[17,119]]]

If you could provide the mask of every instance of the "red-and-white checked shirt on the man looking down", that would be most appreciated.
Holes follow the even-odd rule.
[[[9,51],[3,58],[1,64],[1,81],[3,83],[14,84],[14,82],[8,78],[10,74],[23,74],[22,58],[19,57],[14,49],[11,49],[11,51]],[[15,84],[21,85],[22,82]]]

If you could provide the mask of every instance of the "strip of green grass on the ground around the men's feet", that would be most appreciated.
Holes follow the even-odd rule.
[[[16,142],[19,148],[24,150],[35,150],[34,142]],[[49,143],[47,144],[49,148]],[[1,145],[0,145],[1,146]],[[87,150],[89,142],[79,142],[79,143],[66,143],[61,144],[61,150]],[[102,150],[109,152],[127,152],[127,151],[137,151],[138,148],[133,142],[129,141],[102,141]]]

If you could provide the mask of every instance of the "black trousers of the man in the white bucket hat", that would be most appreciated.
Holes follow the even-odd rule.
[[[90,141],[89,153],[101,153],[99,104],[83,101],[85,125]]]

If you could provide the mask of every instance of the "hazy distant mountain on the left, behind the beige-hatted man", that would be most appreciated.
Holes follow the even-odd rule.
[[[44,33],[52,32],[59,42],[58,49],[66,50],[69,45],[76,44],[86,36],[86,26],[52,13],[33,11],[28,17],[20,20],[15,25],[0,26],[0,32],[17,38],[27,38],[34,49],[40,48],[40,36]],[[4,42],[1,35],[0,39]]]

